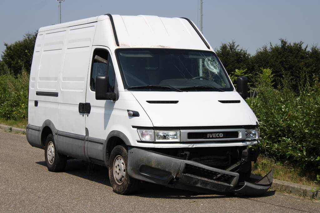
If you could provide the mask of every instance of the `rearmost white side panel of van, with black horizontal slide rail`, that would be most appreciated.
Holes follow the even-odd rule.
[[[67,28],[60,28],[38,33],[30,73],[28,102],[28,123],[34,126],[42,126],[45,120],[58,125],[59,73],[66,30]]]

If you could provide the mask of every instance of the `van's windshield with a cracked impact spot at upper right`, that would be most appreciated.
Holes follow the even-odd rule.
[[[213,52],[117,49],[116,55],[125,88],[129,90],[168,90],[174,87],[183,91],[233,91],[226,71]]]

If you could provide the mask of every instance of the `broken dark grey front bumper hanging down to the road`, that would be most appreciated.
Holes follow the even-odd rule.
[[[252,181],[238,183],[239,174],[235,172],[135,147],[129,147],[128,152],[127,168],[131,177],[168,187],[260,195],[272,184],[273,170],[260,180],[252,176]]]

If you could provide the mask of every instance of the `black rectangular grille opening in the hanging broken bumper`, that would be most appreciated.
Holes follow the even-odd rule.
[[[205,169],[205,168],[191,165],[191,164],[186,164],[183,173],[206,178],[209,180],[220,181],[220,182],[228,183],[228,184],[230,184],[232,182],[232,180],[234,179],[234,176],[232,176],[232,175],[212,171],[212,170]]]

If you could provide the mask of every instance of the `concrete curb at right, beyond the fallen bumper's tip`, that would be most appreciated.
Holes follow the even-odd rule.
[[[320,190],[316,190],[316,187],[312,186],[273,179],[271,189],[278,189],[280,191],[290,192],[295,195],[320,200]]]

